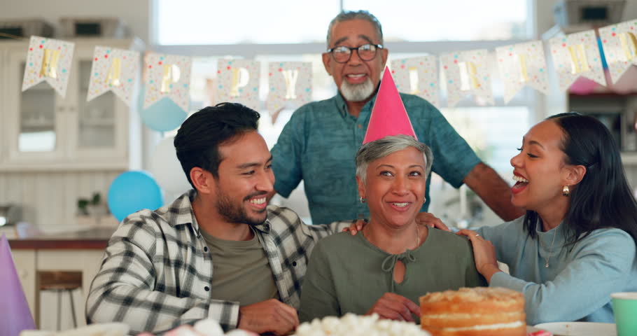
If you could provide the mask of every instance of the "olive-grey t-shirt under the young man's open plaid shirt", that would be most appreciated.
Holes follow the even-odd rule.
[[[213,260],[213,299],[239,302],[241,306],[279,299],[267,255],[256,235],[248,241],[234,241],[201,232]]]

